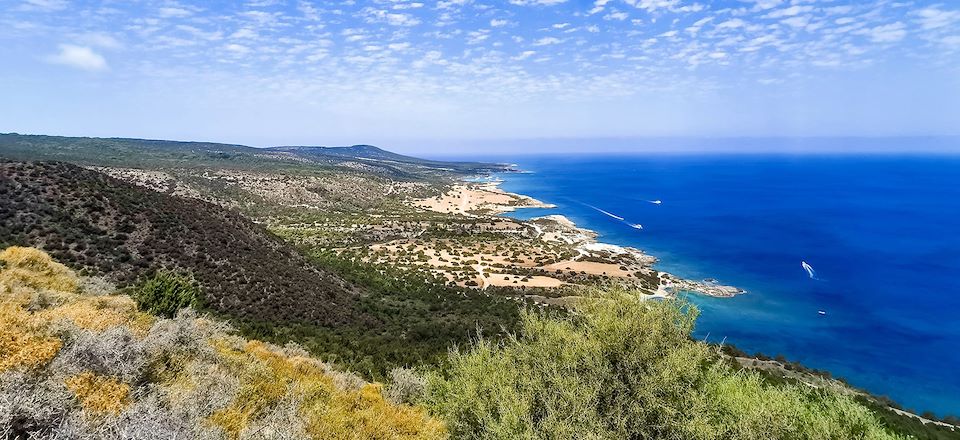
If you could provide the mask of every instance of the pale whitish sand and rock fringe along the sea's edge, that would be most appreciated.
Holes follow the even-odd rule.
[[[420,200],[415,205],[432,211],[456,213],[474,216],[473,213],[502,216],[505,213],[523,208],[556,208],[533,197],[504,191],[499,187],[501,179],[492,176],[474,176],[463,183],[455,184],[441,196]],[[651,270],[657,262],[656,257],[640,249],[597,241],[595,231],[578,227],[569,218],[553,214],[521,221],[533,228],[538,237],[545,241],[559,241],[574,246],[581,261],[564,263],[564,269],[574,271],[600,272],[594,270],[589,260],[591,255],[616,255],[629,257],[644,270]],[[585,258],[586,257],[586,258]],[[604,271],[602,273],[612,275]],[[729,298],[746,293],[745,290],[718,283],[716,280],[688,280],[666,272],[658,272],[658,285],[651,296],[669,297],[680,292],[695,292],[702,295]]]

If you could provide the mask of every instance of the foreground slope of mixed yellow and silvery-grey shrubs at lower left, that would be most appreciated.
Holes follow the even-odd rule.
[[[43,252],[0,251],[0,432],[8,439],[440,439],[440,421],[284,347],[91,292]]]

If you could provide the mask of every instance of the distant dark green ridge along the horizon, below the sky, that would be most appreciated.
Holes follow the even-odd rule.
[[[0,134],[0,157],[57,160],[84,166],[291,170],[349,167],[394,178],[474,174],[509,169],[503,164],[442,162],[392,153],[371,145],[274,147],[210,142]],[[361,166],[356,166],[361,165]]]

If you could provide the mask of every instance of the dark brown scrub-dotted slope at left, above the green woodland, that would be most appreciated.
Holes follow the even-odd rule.
[[[0,160],[0,249],[43,249],[122,285],[190,272],[215,310],[250,320],[372,324],[355,288],[221,206],[65,163]]]

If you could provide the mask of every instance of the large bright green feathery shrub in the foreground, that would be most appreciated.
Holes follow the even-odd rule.
[[[696,309],[616,293],[453,352],[427,402],[455,438],[887,439],[837,393],[772,385],[690,338]]]

